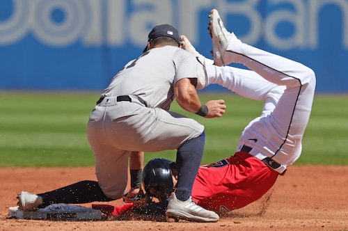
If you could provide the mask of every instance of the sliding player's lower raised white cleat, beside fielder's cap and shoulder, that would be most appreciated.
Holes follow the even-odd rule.
[[[182,42],[182,49],[189,51],[191,54],[197,58],[197,86],[196,89],[202,90],[207,86],[207,73],[205,72],[205,57],[196,51],[196,49],[191,45],[191,42],[186,38],[185,35],[180,36]]]

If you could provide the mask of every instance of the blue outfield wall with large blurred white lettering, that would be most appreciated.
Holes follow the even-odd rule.
[[[1,0],[0,90],[102,90],[155,24],[211,57],[212,8],[242,41],[315,70],[317,92],[348,92],[347,0]]]

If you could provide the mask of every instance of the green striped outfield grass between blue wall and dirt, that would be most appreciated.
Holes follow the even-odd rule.
[[[205,125],[202,164],[229,157],[237,148],[242,129],[259,115],[262,102],[234,94],[200,94],[202,102],[225,99],[222,118],[205,119],[180,109]],[[0,93],[0,166],[93,166],[86,124],[99,93]],[[303,152],[295,164],[347,165],[348,95],[316,95],[303,137]],[[175,151],[146,153],[175,159]]]

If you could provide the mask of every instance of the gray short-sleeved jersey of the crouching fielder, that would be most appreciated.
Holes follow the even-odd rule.
[[[196,58],[179,47],[165,46],[145,51],[113,77],[103,97],[134,95],[150,108],[168,110],[174,99],[174,84],[196,78]]]

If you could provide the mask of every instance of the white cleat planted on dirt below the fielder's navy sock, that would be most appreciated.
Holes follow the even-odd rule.
[[[181,201],[177,200],[175,193],[172,193],[166,210],[166,218],[167,221],[170,218],[174,218],[176,220],[216,222],[219,220],[219,215],[196,205],[191,196],[188,200]]]

